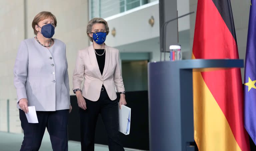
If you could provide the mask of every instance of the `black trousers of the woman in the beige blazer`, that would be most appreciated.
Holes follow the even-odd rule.
[[[82,151],[94,151],[95,128],[99,113],[101,114],[103,123],[106,128],[109,150],[124,151],[118,132],[119,106],[117,100],[110,100],[107,92],[104,90],[101,92],[98,101],[93,102],[85,99],[85,102],[87,109],[83,110],[79,108]]]

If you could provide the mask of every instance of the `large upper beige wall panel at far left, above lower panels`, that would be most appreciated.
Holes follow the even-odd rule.
[[[23,1],[0,1],[0,99],[16,98],[13,66],[19,43],[24,39]]]

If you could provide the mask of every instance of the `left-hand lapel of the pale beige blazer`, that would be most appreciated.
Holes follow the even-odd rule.
[[[90,45],[90,47],[88,48],[89,51],[89,57],[90,57],[90,61],[92,63],[93,69],[96,73],[96,75],[99,77],[99,79],[103,80],[101,73],[100,73],[100,69],[99,69],[99,65],[97,62],[97,58],[96,58],[96,54],[93,48],[93,45]]]

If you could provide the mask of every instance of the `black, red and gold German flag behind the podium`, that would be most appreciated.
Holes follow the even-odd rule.
[[[198,0],[193,59],[238,59],[230,0]],[[200,151],[248,151],[240,69],[193,72],[194,138]]]

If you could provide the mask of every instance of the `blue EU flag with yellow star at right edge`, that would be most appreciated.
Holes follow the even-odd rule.
[[[245,129],[256,144],[256,0],[251,0],[244,72]]]

